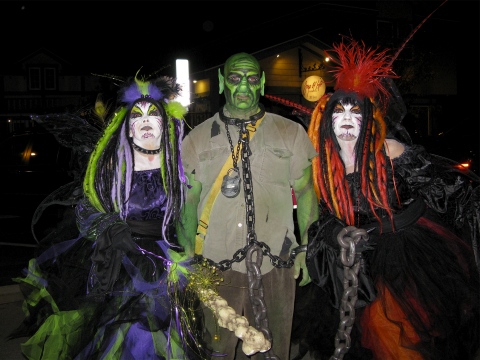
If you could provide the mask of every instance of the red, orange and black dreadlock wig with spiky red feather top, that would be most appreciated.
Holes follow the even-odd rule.
[[[380,221],[378,209],[390,219],[392,211],[387,196],[387,155],[384,147],[387,126],[383,112],[389,91],[385,78],[395,78],[392,58],[387,51],[366,48],[364,43],[350,40],[334,45],[337,59],[331,72],[336,80],[335,92],[322,97],[312,113],[308,134],[319,153],[313,163],[315,191],[319,200],[348,225],[355,224],[354,206],[340,156],[340,145],[333,131],[332,114],[340,101],[358,104],[362,110],[362,126],[355,145],[355,170],[359,176],[360,193]],[[330,54],[329,54],[330,55]],[[392,224],[393,225],[393,224]]]

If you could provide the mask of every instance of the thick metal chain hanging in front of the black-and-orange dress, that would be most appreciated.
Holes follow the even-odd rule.
[[[340,325],[335,336],[335,351],[330,360],[341,360],[351,346],[350,333],[355,323],[355,304],[358,299],[358,272],[363,258],[357,256],[355,245],[368,240],[364,229],[354,226],[343,228],[337,235],[340,245],[340,260],[343,265],[343,296],[340,304]]]

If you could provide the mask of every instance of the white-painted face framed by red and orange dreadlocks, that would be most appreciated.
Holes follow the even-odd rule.
[[[362,110],[359,105],[342,104],[340,102],[335,105],[332,121],[333,132],[338,140],[357,140],[362,125]]]

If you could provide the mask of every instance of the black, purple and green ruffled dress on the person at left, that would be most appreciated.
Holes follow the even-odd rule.
[[[26,318],[14,336],[30,337],[28,359],[201,358],[190,321],[201,311],[182,291],[189,263],[159,235],[165,201],[156,169],[135,172],[126,222],[86,200],[76,206],[80,235],[15,279]]]

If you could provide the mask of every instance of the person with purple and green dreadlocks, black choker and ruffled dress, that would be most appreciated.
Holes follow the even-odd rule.
[[[80,235],[57,240],[16,279],[26,318],[14,335],[29,337],[29,359],[202,357],[174,231],[186,187],[180,91],[170,77],[122,83],[86,168]]]

